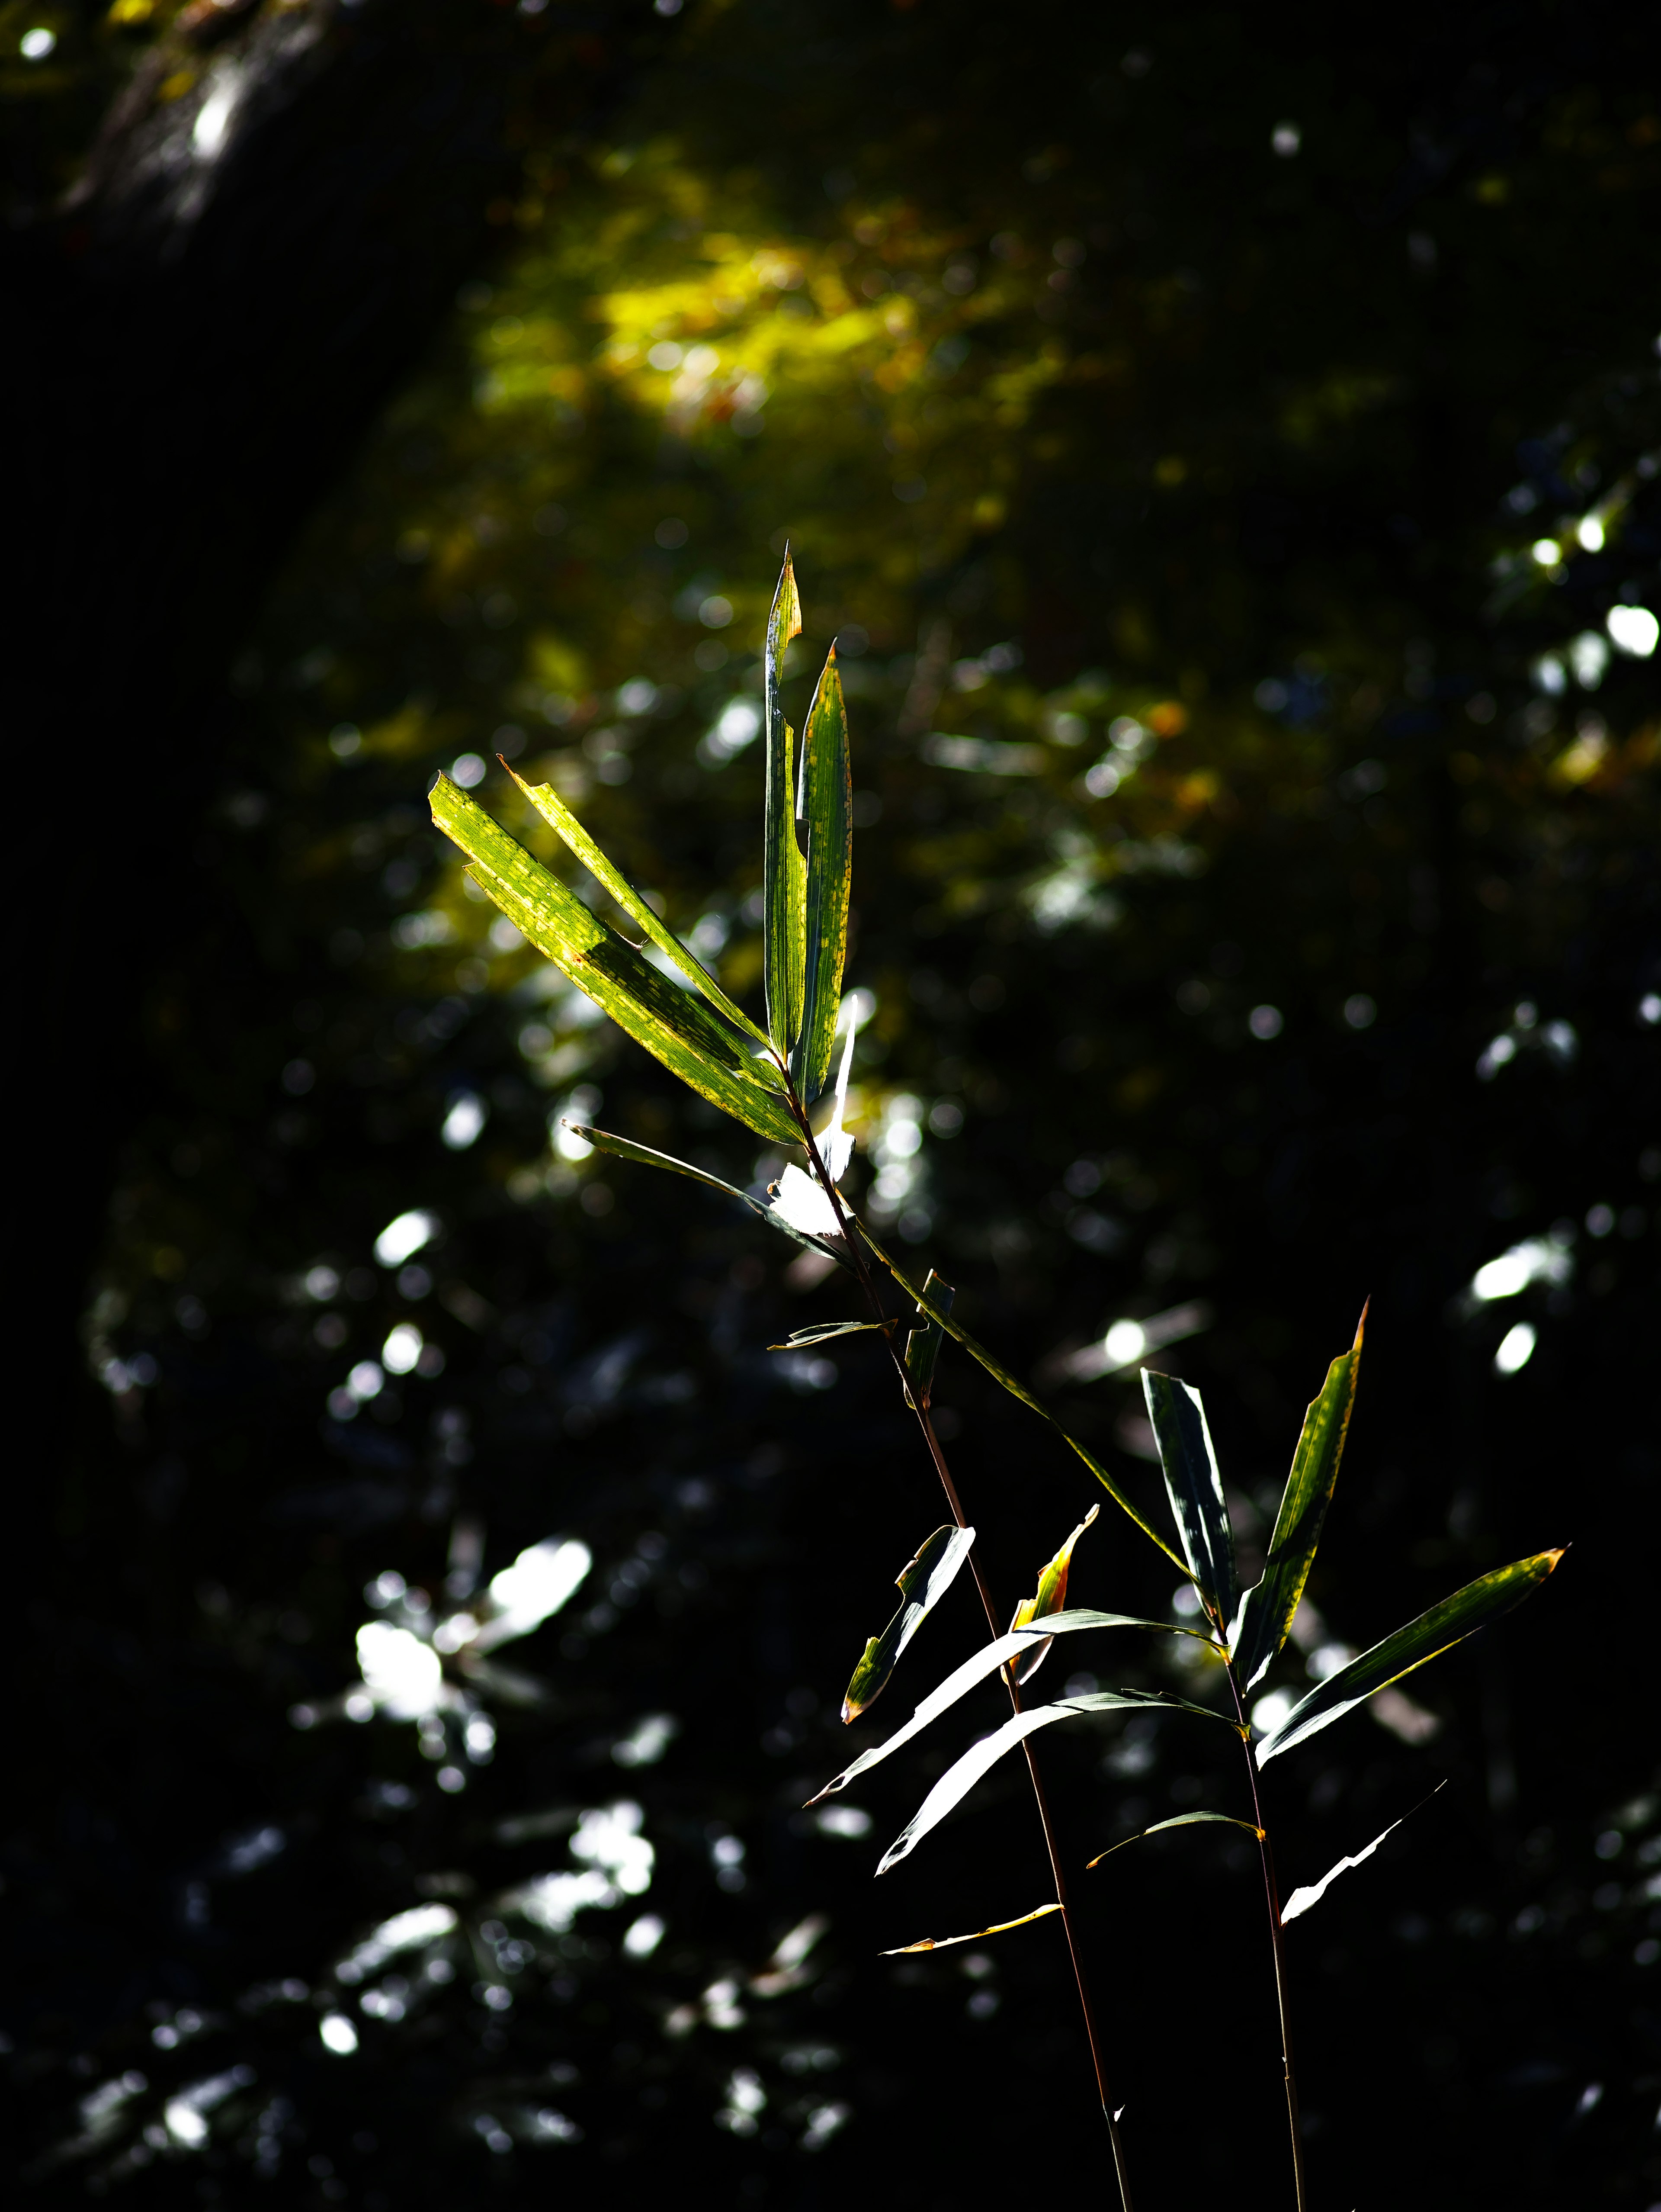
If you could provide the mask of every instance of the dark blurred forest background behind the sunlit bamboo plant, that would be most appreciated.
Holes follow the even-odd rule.
[[[1424,1741],[1354,1717],[1267,1772],[1287,1887],[1449,1783],[1287,1936],[1314,2201],[1661,2194],[1657,661],[1595,650],[1661,606],[1637,13],[0,20],[31,2190],[1110,2188],[1051,1927],[876,1955],[1040,1900],[1013,1765],[876,1889],[971,1723],[852,1794],[869,1834],[798,1812],[940,1517],[891,1378],[860,1338],[767,1354],[852,1307],[737,1208],[549,1150],[588,1086],[756,1172],[487,938],[425,827],[438,765],[549,761],[752,987],[759,763],[708,732],[790,533],[798,692],[845,641],[856,1075],[911,1256],[1150,1509],[1135,1383],[1059,1363],[1201,1301],[1161,1365],[1247,1546],[1371,1296],[1312,1582],[1340,1641],[1573,1544],[1409,1683]],[[666,400],[646,345],[692,341],[719,374]],[[416,1206],[400,1281],[372,1248]],[[1553,1232],[1555,1281],[1464,1296]],[[400,1321],[442,1371],[345,1418]],[[967,1363],[940,1396],[1013,1604],[1088,1478]],[[1104,1515],[1073,1595],[1163,1613]],[[467,1531],[484,1575],[595,1553],[506,1650],[540,1690],[476,1690],[493,1756],[451,1730],[442,1790],[411,1721],[296,1728],[356,1681],[365,1584],[440,1601]],[[953,1590],[878,1719],[975,1632]],[[1192,1688],[1130,1639],[1048,1668]],[[644,1714],[679,1732],[630,1763]],[[1046,1736],[1077,1863],[1243,1809],[1194,1730]],[[537,1931],[504,1896],[619,1798],[650,1891]],[[1289,2199],[1254,1882],[1205,1829],[1079,1878],[1141,2205]],[[422,1900],[456,1933],[363,2013],[334,1969]]]

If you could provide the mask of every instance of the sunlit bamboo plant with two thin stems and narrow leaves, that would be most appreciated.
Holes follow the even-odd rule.
[[[785,1166],[763,1201],[690,1161],[633,1144],[608,1130],[573,1124],[575,1133],[599,1152],[630,1159],[639,1166],[666,1168],[725,1192],[756,1212],[770,1228],[781,1230],[785,1237],[845,1270],[858,1285],[865,1318],[801,1329],[790,1338],[790,1347],[796,1349],[823,1343],[829,1336],[858,1332],[878,1336],[896,1371],[905,1405],[918,1422],[951,1522],[936,1528],[902,1568],[898,1577],[900,1610],[865,1646],[843,1699],[843,1719],[858,1719],[882,1694],[907,1646],[964,1564],[969,1564],[980,1593],[991,1641],[947,1674],[900,1730],[885,1743],[863,1752],[849,1767],[834,1776],[821,1796],[845,1790],[858,1776],[911,1743],[913,1736],[949,1712],[969,1690],[997,1674],[1009,1697],[1009,1719],[940,1776],[909,1825],[889,1845],[878,1874],[885,1874],[909,1856],[969,1790],[1006,1752],[1020,1745],[1044,1834],[1053,1896],[1017,1920],[978,1929],[973,1936],[920,1938],[905,1949],[931,1951],[942,1944],[997,1936],[1033,1920],[1059,1918],[1095,2068],[1097,2097],[1112,2148],[1119,2201],[1124,2212],[1130,2212],[1130,2181],[1115,2099],[1108,2088],[1104,2042],[1090,2002],[1070,1911],[1062,1845],[1033,1739],[1040,1730],[1057,1721],[1146,1708],[1183,1712],[1212,1725],[1223,1723],[1232,1728],[1243,1747],[1250,1818],[1230,1812],[1188,1812],[1172,1820],[1159,1820],[1155,1827],[1143,1829],[1143,1834],[1152,1836],[1159,1829],[1221,1820],[1247,1829],[1256,1838],[1281,2008],[1294,2188],[1298,2212],[1305,2212],[1303,2141],[1292,2062],[1283,1927],[1298,1911],[1316,1902],[1345,1867],[1367,1858],[1382,1843],[1382,1836],[1351,1858],[1340,1860],[1314,1889],[1300,1889],[1283,1905],[1263,1816],[1261,1770],[1270,1759],[1354,1712],[1376,1690],[1400,1681],[1402,1674],[1413,1672],[1413,1668],[1424,1666],[1451,1644],[1497,1619],[1544,1582],[1561,1557],[1561,1551],[1542,1551],[1528,1559],[1517,1559],[1458,1590],[1420,1619],[1409,1621],[1382,1644],[1338,1668],[1338,1672],[1329,1674],[1296,1703],[1270,1734],[1254,1741],[1245,1697],[1281,1652],[1309,1577],[1349,1429],[1362,1327],[1356,1329],[1351,1349],[1331,1363],[1327,1380],[1307,1411],[1263,1577],[1243,1590],[1234,1564],[1223,1482],[1205,1411],[1194,1389],[1172,1376],[1143,1371],[1148,1416],[1159,1444],[1177,1528],[1177,1544],[1172,1544],[1137,1511],[1110,1471],[1075,1436],[1068,1436],[1055,1416],[984,1345],[953,1321],[951,1285],[942,1283],[933,1270],[929,1270],[922,1283],[911,1281],[880,1245],[869,1223],[856,1214],[840,1190],[852,1159],[852,1137],[843,1126],[843,1115],[854,1051],[854,1020],[852,1013],[845,1018],[843,1002],[852,891],[847,710],[836,668],[836,648],[832,646],[801,737],[792,730],[781,699],[781,672],[785,648],[796,635],[801,635],[801,604],[794,568],[790,555],[785,555],[763,639],[763,1022],[754,1022],[721,989],[710,969],[668,929],[652,905],[606,858],[551,785],[526,783],[506,761],[502,763],[524,799],[562,838],[571,856],[588,869],[595,883],[610,894],[621,914],[641,931],[644,942],[635,942],[617,929],[606,927],[553,869],[535,860],[484,807],[442,774],[431,790],[433,823],[467,854],[469,874],[502,914],[579,991],[608,1013],[621,1031],[646,1046],[672,1075],[712,1106],[719,1106],[743,1128],[754,1130],[770,1144],[785,1148],[785,1152],[798,1155],[798,1159]],[[670,971],[675,973],[670,975]],[[832,1086],[829,1077],[838,1031],[843,1031],[843,1053],[838,1077]],[[827,1091],[832,1110],[825,1117],[823,1099]],[[818,1117],[816,1108],[821,1108]],[[891,1292],[885,1296],[885,1285],[894,1285],[900,1294],[898,1314],[889,1310],[887,1296]],[[909,1321],[905,1318],[907,1305],[911,1307]],[[1079,1522],[1055,1557],[1040,1571],[1035,1595],[1015,1608],[1009,1628],[1000,1626],[1004,1613],[993,1599],[984,1559],[975,1546],[975,1528],[964,1515],[958,1484],[931,1418],[933,1374],[944,1338],[951,1338],[1011,1396],[1020,1398],[1024,1407],[1057,1431],[1112,1504],[1192,1584],[1203,1626],[1084,1608],[1068,1610],[1066,1584],[1073,1548],[1097,1517],[1099,1504],[1090,1509],[1086,1520]],[[1026,1703],[1024,1690],[1055,1637],[1124,1628],[1197,1637],[1221,1661],[1230,1710],[1146,1690],[1093,1690],[1079,1697],[1059,1697],[1042,1705]],[[1135,1843],[1139,1838],[1128,1840]],[[1099,1865],[1106,1856],[1099,1854],[1090,1865]]]

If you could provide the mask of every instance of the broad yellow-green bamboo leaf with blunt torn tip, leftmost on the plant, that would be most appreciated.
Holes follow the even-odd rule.
[[[438,827],[469,854],[473,880],[619,1029],[759,1137],[774,1144],[801,1139],[783,1099],[763,1088],[748,1048],[712,1009],[677,989],[644,953],[597,922],[551,869],[449,776],[433,785],[431,807]]]

